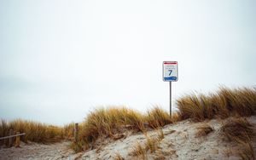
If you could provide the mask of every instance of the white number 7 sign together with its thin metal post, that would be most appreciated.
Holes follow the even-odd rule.
[[[177,81],[177,61],[163,62],[163,81],[170,84],[170,117],[172,118],[172,82]]]

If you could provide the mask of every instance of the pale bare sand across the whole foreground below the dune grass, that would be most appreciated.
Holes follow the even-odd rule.
[[[256,126],[256,117],[248,118],[250,123]],[[148,159],[166,157],[166,159],[239,159],[232,156],[228,148],[236,145],[224,142],[218,131],[222,120],[211,120],[208,122],[214,131],[206,137],[197,138],[195,133],[202,123],[192,123],[189,120],[167,125],[163,129],[165,138],[160,141],[160,150],[154,153],[148,151]],[[148,132],[150,136],[156,136],[155,131]],[[119,153],[125,159],[136,159],[129,153],[136,142],[143,144],[146,141],[144,134],[127,135],[126,138],[109,141],[104,145],[90,151],[74,154],[68,149],[70,142],[64,141],[53,145],[38,145],[32,143],[21,148],[10,148],[0,150],[0,159],[113,159]],[[253,140],[254,152],[256,151],[256,140]],[[256,152],[255,152],[256,155]]]

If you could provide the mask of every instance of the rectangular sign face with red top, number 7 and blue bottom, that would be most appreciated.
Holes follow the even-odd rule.
[[[163,80],[177,81],[177,61],[163,62]]]

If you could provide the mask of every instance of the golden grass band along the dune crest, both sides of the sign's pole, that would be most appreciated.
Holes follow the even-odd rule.
[[[216,117],[255,115],[256,89],[222,87],[215,94],[190,94],[178,99],[177,107],[179,111],[173,113],[172,118],[159,106],[155,106],[145,115],[125,107],[98,109],[90,112],[86,117],[79,140],[85,146],[91,146],[102,136],[114,139],[114,135],[125,132],[125,126],[130,126],[134,131],[146,132],[147,126],[158,129],[166,124],[188,118],[199,122]],[[201,130],[201,134],[211,131],[210,128]]]

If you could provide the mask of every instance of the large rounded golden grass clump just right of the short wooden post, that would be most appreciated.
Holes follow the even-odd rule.
[[[90,144],[103,135],[113,137],[126,125],[137,131],[143,131],[143,115],[125,107],[97,109],[90,112],[82,124],[79,139]]]

